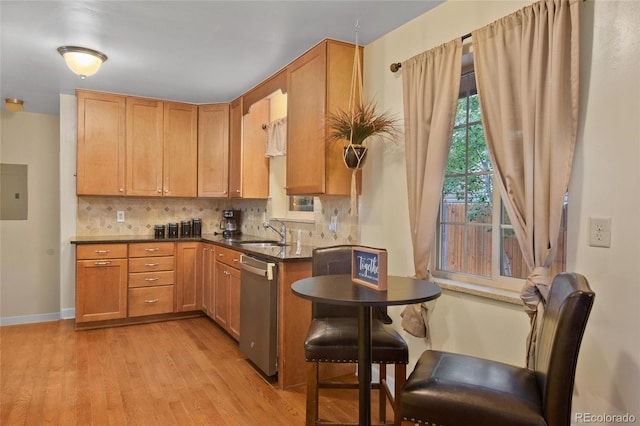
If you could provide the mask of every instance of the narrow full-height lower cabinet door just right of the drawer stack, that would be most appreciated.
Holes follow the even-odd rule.
[[[176,311],[198,310],[202,307],[202,245],[178,243],[176,251]]]

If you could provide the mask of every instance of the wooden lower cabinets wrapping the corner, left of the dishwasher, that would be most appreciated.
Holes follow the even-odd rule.
[[[76,324],[202,310],[239,340],[240,254],[197,241],[79,244]]]

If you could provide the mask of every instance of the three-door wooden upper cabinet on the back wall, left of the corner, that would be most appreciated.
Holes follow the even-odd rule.
[[[77,97],[78,195],[197,195],[197,106],[85,90]]]

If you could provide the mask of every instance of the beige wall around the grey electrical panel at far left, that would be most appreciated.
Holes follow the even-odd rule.
[[[0,222],[2,325],[59,317],[58,117],[2,111],[0,161],[28,167],[28,219]]]

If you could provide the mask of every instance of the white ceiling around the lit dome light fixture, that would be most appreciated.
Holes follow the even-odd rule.
[[[0,99],[44,114],[76,88],[229,102],[324,38],[355,42],[356,22],[366,46],[440,3],[1,0]],[[64,45],[109,59],[81,80],[56,51]]]

